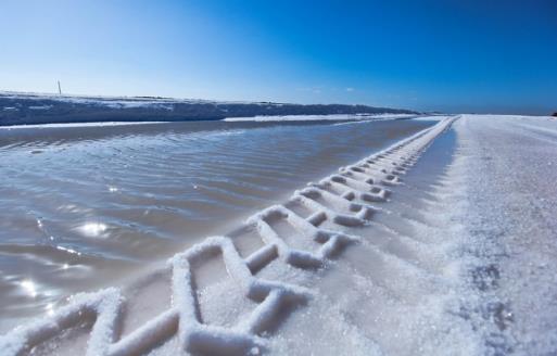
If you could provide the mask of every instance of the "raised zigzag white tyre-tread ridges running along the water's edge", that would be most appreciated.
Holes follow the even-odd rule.
[[[0,349],[4,355],[26,354],[65,330],[92,320],[88,356],[143,354],[174,336],[178,338],[179,347],[190,353],[264,353],[268,348],[265,334],[278,314],[283,313],[283,306],[311,303],[314,291],[266,280],[257,277],[257,272],[273,262],[316,270],[330,256],[340,254],[345,245],[359,243],[362,238],[345,234],[341,228],[366,225],[376,211],[368,203],[385,201],[391,193],[388,187],[398,185],[400,177],[412,167],[420,153],[455,119],[443,119],[377,154],[340,168],[339,173],[317,183],[308,183],[308,187],[295,191],[283,205],[270,206],[253,215],[243,227],[253,228],[263,246],[248,256],[242,256],[231,236],[207,238],[175,255],[166,267],[172,274],[170,308],[132,332],[118,338],[122,307],[126,301],[119,289],[109,288],[96,293],[77,294],[67,306],[61,307],[52,316],[12,330],[0,338]],[[337,191],[342,193],[334,193]],[[288,207],[292,205],[302,206],[311,214],[302,217]],[[290,225],[303,239],[319,244],[319,247],[293,247],[273,228],[277,221]],[[319,227],[324,221],[329,223],[328,227],[339,228]],[[232,327],[207,325],[201,318],[192,274],[197,260],[215,255],[221,257],[227,274],[243,296],[258,303],[249,317]]]

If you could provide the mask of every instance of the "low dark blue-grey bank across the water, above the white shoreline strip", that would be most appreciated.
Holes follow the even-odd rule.
[[[266,115],[417,114],[344,104],[217,102],[160,97],[78,97],[0,92],[0,126],[91,122],[217,120]]]

